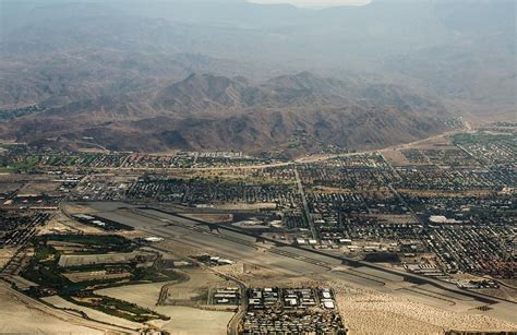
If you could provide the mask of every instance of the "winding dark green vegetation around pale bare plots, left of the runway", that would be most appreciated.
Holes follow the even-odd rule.
[[[166,315],[141,308],[134,303],[96,295],[94,290],[122,285],[183,282],[188,279],[187,275],[168,268],[160,260],[149,267],[140,267],[137,266],[139,263],[134,261],[129,264],[87,264],[63,268],[58,265],[61,252],[49,246],[49,242],[52,241],[74,243],[74,248],[79,247],[81,249],[81,252],[77,252],[79,254],[131,252],[139,248],[134,242],[118,236],[53,235],[37,237],[34,241],[34,256],[22,272],[24,278],[39,285],[39,287],[33,287],[28,290],[28,294],[36,298],[59,295],[73,303],[133,322],[146,322],[158,319],[168,320],[169,318]],[[73,283],[64,276],[69,273],[113,268],[119,272],[128,272],[131,276],[123,279],[96,278],[79,283]]]

